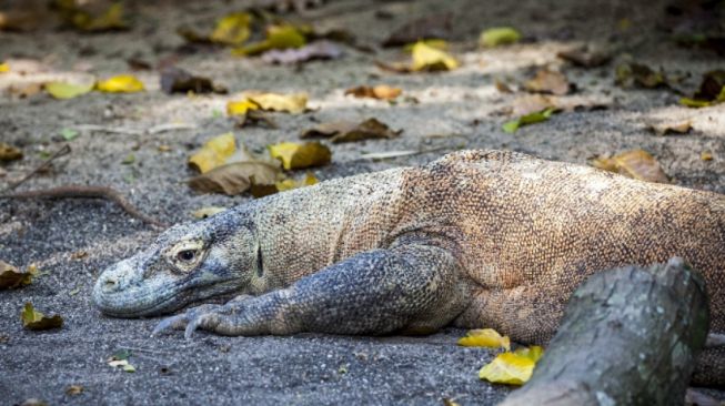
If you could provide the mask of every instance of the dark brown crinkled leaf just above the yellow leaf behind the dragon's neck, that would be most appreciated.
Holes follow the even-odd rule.
[[[400,135],[403,130],[393,131],[387,124],[376,119],[367,119],[360,123],[350,121],[333,121],[318,124],[312,129],[305,130],[301,138],[326,136],[333,143],[353,142],[374,139],[393,139]]]

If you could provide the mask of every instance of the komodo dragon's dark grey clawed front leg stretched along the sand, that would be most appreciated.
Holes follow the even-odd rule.
[[[358,254],[288,288],[202,305],[162,321],[153,334],[203,328],[223,335],[385,334],[446,325],[467,304],[454,256],[444,248],[399,245]]]

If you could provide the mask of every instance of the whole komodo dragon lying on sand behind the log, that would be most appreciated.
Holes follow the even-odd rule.
[[[323,182],[175,225],[99,277],[105,314],[170,313],[154,334],[555,333],[593,273],[678,255],[725,333],[725,195],[502,151]],[[725,347],[703,380],[725,384]],[[704,369],[703,369],[704,368]],[[705,376],[703,375],[703,376]]]

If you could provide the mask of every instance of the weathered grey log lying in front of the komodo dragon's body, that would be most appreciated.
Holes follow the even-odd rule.
[[[592,276],[531,380],[502,405],[682,405],[707,336],[705,292],[679,258]]]

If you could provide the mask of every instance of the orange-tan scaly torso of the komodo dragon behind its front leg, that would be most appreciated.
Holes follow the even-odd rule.
[[[475,281],[457,317],[531,343],[555,332],[598,271],[682,256],[702,272],[725,332],[725,196],[503,151],[449,154],[403,175],[404,223],[452,230]]]

